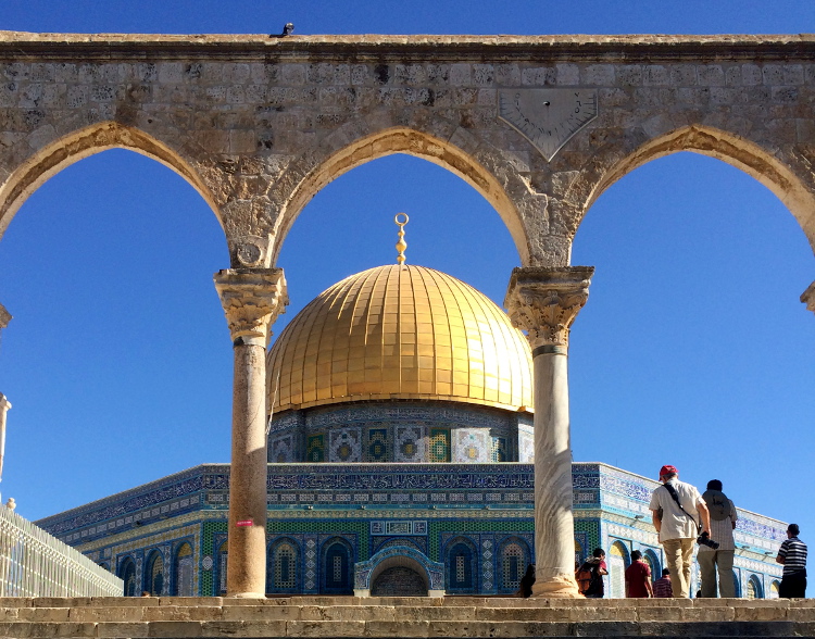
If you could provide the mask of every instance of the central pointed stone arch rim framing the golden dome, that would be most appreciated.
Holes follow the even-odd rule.
[[[434,123],[434,130],[444,130],[450,123]],[[375,133],[359,135],[361,123],[352,122],[335,131],[314,155],[301,158],[288,167],[278,181],[280,202],[275,224],[275,249],[272,264],[277,262],[283,241],[303,208],[325,186],[343,173],[366,162],[403,153],[422,158],[447,168],[475,188],[498,212],[515,242],[522,264],[530,260],[529,229],[525,215],[518,211],[518,202],[532,193],[516,170],[496,160],[500,151],[478,152],[485,143],[461,129],[444,130],[444,138],[419,128],[394,125]],[[426,127],[423,127],[426,128]],[[354,138],[354,135],[358,137]],[[456,135],[457,134],[457,135]],[[351,141],[348,141],[348,140]],[[340,140],[340,142],[337,142]],[[454,140],[454,141],[453,141]],[[466,147],[466,148],[465,148]],[[476,156],[478,155],[478,158]],[[489,156],[491,160],[488,160]],[[491,163],[488,166],[488,162]],[[500,179],[499,179],[500,176]],[[546,201],[546,199],[544,199]]]

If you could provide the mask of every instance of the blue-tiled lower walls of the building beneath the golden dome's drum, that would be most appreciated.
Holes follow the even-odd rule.
[[[573,481],[576,557],[606,549],[609,594],[622,596],[634,549],[659,572],[648,512],[656,483],[604,464],[574,464]],[[115,571],[131,594],[216,596],[226,585],[228,491],[228,465],[198,466],[38,524]],[[267,591],[350,593],[355,568],[401,553],[442,565],[449,593],[512,592],[534,561],[532,491],[532,466],[522,463],[269,464]],[[773,596],[785,529],[740,509],[741,596]]]

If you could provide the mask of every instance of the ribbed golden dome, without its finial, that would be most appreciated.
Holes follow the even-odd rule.
[[[506,314],[424,266],[378,266],[305,306],[268,354],[275,412],[356,400],[532,405],[531,355]]]

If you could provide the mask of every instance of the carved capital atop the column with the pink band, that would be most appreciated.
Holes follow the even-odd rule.
[[[265,348],[269,327],[289,303],[283,268],[226,268],[213,279],[235,346]]]

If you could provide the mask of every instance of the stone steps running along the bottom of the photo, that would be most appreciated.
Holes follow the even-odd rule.
[[[815,600],[5,598],[0,638],[815,637]]]

